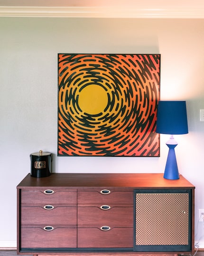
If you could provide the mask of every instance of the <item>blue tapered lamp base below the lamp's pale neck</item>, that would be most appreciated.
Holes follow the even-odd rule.
[[[176,154],[174,148],[177,144],[167,144],[169,151],[167,156],[167,163],[164,172],[164,178],[168,180],[179,179],[178,166],[176,162]]]

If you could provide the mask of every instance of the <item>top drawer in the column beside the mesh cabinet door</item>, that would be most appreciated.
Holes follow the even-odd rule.
[[[103,193],[104,192],[104,193]],[[133,191],[78,191],[78,204],[132,204]]]

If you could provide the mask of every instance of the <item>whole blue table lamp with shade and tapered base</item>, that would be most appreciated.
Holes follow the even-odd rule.
[[[169,148],[164,178],[179,179],[176,154],[174,148],[178,144],[174,134],[188,133],[187,113],[185,101],[159,101],[157,113],[156,133],[170,134],[167,141]]]

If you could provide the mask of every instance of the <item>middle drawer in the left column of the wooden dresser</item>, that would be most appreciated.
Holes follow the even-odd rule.
[[[76,225],[76,216],[76,206],[21,205],[21,224],[23,225],[44,225],[47,223],[52,225]]]

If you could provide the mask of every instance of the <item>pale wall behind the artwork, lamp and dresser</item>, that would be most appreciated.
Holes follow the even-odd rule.
[[[57,157],[57,53],[160,53],[162,100],[186,100],[177,135],[181,174],[196,186],[195,233],[204,247],[204,20],[0,18],[0,247],[16,246],[16,186],[29,154],[54,154],[53,172],[162,173],[160,157]]]

